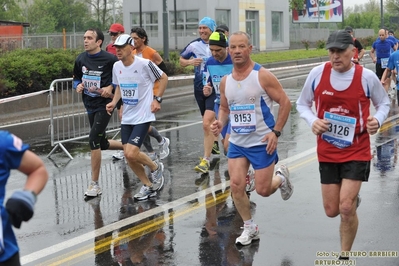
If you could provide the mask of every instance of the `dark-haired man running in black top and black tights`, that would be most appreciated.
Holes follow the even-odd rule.
[[[98,29],[89,29],[84,34],[85,52],[78,55],[73,69],[73,85],[87,110],[90,122],[89,145],[91,149],[91,183],[85,192],[86,197],[102,194],[98,185],[101,168],[101,150],[122,150],[122,143],[107,140],[105,129],[111,114],[105,110],[111,102],[112,67],[118,59],[115,55],[101,50],[104,34]]]

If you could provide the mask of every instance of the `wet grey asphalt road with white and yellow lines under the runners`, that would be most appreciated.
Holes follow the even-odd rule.
[[[281,79],[291,100],[297,99],[304,79]],[[195,105],[189,101],[187,106]],[[24,265],[334,265],[339,218],[324,214],[315,137],[294,107],[278,146],[280,163],[290,169],[294,194],[285,202],[279,191],[269,198],[252,193],[260,241],[243,248],[234,244],[242,221],[225,177],[227,160],[213,157],[210,175],[197,174],[193,167],[202,156],[199,112],[176,113],[180,114],[154,124],[170,138],[171,153],[164,160],[163,190],[146,202],[132,200],[140,184],[123,161],[112,161],[112,151],[103,153],[103,195],[85,202],[90,180],[86,142],[65,145],[73,160],[61,150],[46,158],[48,142],[34,142],[32,149],[45,161],[51,178],[34,218],[16,230]],[[348,265],[399,265],[398,113],[394,102],[387,123],[372,137],[375,157],[370,181],[361,190],[353,246],[358,253]],[[7,196],[23,182],[13,172]]]

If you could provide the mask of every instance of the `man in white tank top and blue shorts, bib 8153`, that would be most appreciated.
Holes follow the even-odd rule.
[[[231,192],[234,204],[244,221],[244,231],[236,244],[249,245],[259,239],[259,229],[251,217],[245,193],[248,167],[255,169],[256,192],[268,197],[278,188],[284,200],[291,197],[293,187],[288,168],[278,161],[277,142],[291,111],[291,103],[277,78],[250,58],[252,44],[245,32],[235,32],[229,39],[233,71],[220,82],[219,117],[211,125],[217,136],[230,116],[231,136],[227,153]],[[280,105],[275,120],[272,103]],[[276,173],[276,175],[274,175]]]

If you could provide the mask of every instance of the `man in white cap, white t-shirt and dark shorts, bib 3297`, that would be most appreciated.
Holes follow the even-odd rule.
[[[154,96],[153,87],[159,83],[159,95],[162,96],[168,76],[148,59],[133,55],[133,38],[122,34],[116,39],[118,62],[114,64],[112,83],[116,85],[115,96],[107,104],[107,111],[112,112],[119,99],[123,101],[121,137],[123,151],[129,167],[140,179],[143,186],[134,195],[136,200],[146,200],[157,196],[164,184],[163,163],[152,161],[140,151],[155,113],[160,110],[160,102]],[[144,166],[151,171],[150,178]]]

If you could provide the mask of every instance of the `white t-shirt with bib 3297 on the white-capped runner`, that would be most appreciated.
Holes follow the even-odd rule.
[[[114,64],[112,83],[118,85],[123,101],[121,124],[137,125],[155,121],[151,112],[154,82],[163,72],[148,59],[134,57],[133,64],[124,66],[122,61]]]

